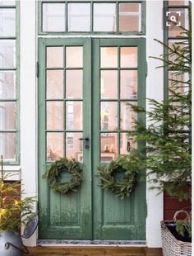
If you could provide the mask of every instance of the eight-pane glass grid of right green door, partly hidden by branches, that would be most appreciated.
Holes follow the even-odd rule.
[[[129,106],[137,104],[137,47],[101,46],[99,69],[100,161],[109,162],[135,148],[123,131],[134,130],[137,118]]]

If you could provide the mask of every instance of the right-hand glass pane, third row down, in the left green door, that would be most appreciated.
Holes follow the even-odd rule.
[[[82,129],[82,102],[66,102],[66,129]]]

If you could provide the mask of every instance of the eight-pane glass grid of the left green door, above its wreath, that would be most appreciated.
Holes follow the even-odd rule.
[[[82,48],[76,45],[46,48],[47,161],[64,156],[83,160],[79,140],[82,137]]]

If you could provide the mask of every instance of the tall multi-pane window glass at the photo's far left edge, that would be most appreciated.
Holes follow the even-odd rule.
[[[0,154],[19,164],[19,2],[0,0]]]

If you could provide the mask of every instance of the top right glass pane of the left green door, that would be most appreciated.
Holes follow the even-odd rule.
[[[67,46],[66,47],[66,67],[83,67],[83,47]]]

